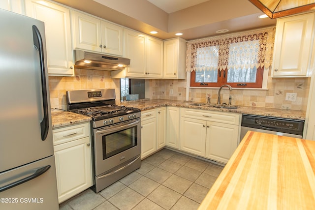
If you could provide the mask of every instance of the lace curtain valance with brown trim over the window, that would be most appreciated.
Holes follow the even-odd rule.
[[[186,71],[269,68],[274,33],[269,27],[189,41]]]

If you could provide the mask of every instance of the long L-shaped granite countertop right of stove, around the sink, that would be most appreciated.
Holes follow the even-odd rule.
[[[154,108],[162,107],[162,106],[177,106],[177,107],[184,107],[184,108],[212,110],[212,111],[218,111],[218,112],[231,112],[231,113],[239,113],[239,114],[251,114],[251,115],[260,115],[260,116],[268,116],[268,117],[305,120],[305,113],[302,112],[301,110],[274,109],[274,108],[264,108],[264,107],[254,107],[254,106],[240,106],[238,109],[222,109],[222,108],[215,108],[215,107],[190,105],[192,103],[197,103],[197,102],[155,99],[155,100],[139,100],[139,101],[121,102],[119,105],[139,108],[141,111],[154,109]]]

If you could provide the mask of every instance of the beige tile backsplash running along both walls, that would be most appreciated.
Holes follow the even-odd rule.
[[[110,71],[75,69],[75,77],[49,77],[51,107],[66,110],[66,90],[115,89],[116,102],[120,98],[120,80],[111,79]],[[268,78],[268,90],[221,90],[221,102],[228,103],[232,96],[233,105],[306,110],[310,78]],[[146,97],[149,99],[186,99],[186,80],[146,80]],[[297,93],[296,101],[286,101],[288,92]],[[218,89],[193,88],[189,100],[206,102],[211,98],[217,103]]]

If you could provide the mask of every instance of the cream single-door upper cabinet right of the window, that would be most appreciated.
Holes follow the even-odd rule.
[[[311,76],[315,13],[277,19],[272,77]]]

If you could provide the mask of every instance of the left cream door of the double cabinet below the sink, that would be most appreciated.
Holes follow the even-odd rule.
[[[180,148],[196,155],[205,156],[206,146],[205,120],[181,118]]]

